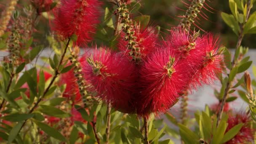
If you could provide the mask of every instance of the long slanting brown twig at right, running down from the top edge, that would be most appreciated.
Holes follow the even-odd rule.
[[[251,11],[251,6],[250,5],[251,5],[251,0],[248,0],[248,2],[247,2],[247,16],[246,16],[246,19],[245,19],[245,23],[248,20],[249,13]],[[239,33],[239,36],[238,36],[237,45],[235,47],[235,53],[239,50],[239,47],[240,47],[240,45],[242,43],[242,40],[243,40],[243,29],[244,29],[245,23],[244,24],[240,24],[240,33]],[[232,65],[231,65],[230,72],[235,67],[235,65],[236,65],[236,59],[235,59],[235,55],[234,55],[233,56],[233,60],[232,60]],[[228,78],[229,78],[229,74],[228,74]],[[221,101],[221,108],[219,109],[219,112],[218,112],[218,115],[217,115],[217,127],[218,127],[219,122],[221,120],[223,109],[224,109],[224,105],[226,103],[227,95],[228,95],[228,92],[229,92],[229,89],[230,89],[231,85],[232,85],[232,81],[231,82],[228,81],[227,85],[226,85],[226,88],[225,88],[225,92],[224,92],[222,101]]]

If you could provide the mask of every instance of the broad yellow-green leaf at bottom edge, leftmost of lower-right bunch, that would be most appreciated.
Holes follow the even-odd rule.
[[[198,144],[199,137],[197,136],[197,134],[195,134],[185,125],[182,125],[180,123],[178,125],[181,138],[185,142],[185,144]]]

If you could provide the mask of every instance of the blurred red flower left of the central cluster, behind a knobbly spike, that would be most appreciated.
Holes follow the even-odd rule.
[[[77,78],[74,75],[73,69],[61,74],[59,84],[66,84],[66,89],[63,93],[63,97],[71,99],[73,102],[81,100],[81,94],[79,92],[79,86],[77,84]]]

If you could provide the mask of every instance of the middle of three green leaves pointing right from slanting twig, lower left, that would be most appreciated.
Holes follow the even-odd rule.
[[[40,105],[42,109],[40,109],[40,112],[43,112],[46,115],[50,115],[53,117],[70,117],[70,114],[67,114],[66,112],[63,112],[62,110],[48,105]]]

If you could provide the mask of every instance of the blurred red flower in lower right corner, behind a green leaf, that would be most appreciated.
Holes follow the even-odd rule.
[[[253,135],[255,130],[251,128],[251,119],[249,115],[245,113],[239,113],[235,116],[229,115],[227,123],[228,126],[226,132],[239,123],[243,123],[243,126],[237,135],[235,135],[234,138],[227,141],[225,144],[249,144],[253,142]]]

